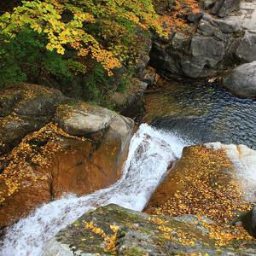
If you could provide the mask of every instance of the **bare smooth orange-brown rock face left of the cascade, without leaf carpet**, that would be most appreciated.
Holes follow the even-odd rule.
[[[65,151],[56,155],[50,168],[53,198],[59,198],[63,192],[69,191],[76,195],[89,194],[119,179],[123,162],[117,165],[118,144],[115,144],[116,150],[113,151],[113,145],[111,148],[102,145],[102,148],[94,150],[94,144],[90,141],[71,139],[65,143]]]

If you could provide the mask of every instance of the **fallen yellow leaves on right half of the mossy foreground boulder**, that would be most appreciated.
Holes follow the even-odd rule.
[[[153,216],[149,218],[149,221],[157,225],[160,236],[164,239],[192,247],[196,247],[197,243],[204,244],[207,247],[210,244],[217,247],[226,247],[234,244],[234,242],[242,241],[246,244],[255,241],[253,236],[250,236],[242,226],[216,224],[200,216],[191,217],[189,223],[185,220],[180,222],[178,219],[168,219],[165,216]],[[198,230],[201,230],[201,232],[198,232]],[[195,253],[193,255],[208,254]]]

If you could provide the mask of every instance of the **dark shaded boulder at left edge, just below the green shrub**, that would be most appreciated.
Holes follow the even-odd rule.
[[[63,100],[59,90],[37,84],[1,90],[0,155],[15,147],[29,132],[46,125]]]

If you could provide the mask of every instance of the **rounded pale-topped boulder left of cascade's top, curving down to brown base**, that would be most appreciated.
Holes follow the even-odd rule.
[[[55,122],[68,134],[89,138],[95,151],[90,152],[90,160],[105,172],[106,178],[119,177],[133,134],[132,119],[82,102],[61,105]]]

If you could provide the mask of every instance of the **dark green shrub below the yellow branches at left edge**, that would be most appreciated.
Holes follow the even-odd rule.
[[[73,77],[63,56],[47,50],[45,38],[29,29],[8,41],[2,38],[0,67],[1,87],[23,81],[40,83],[49,75],[65,81]]]

